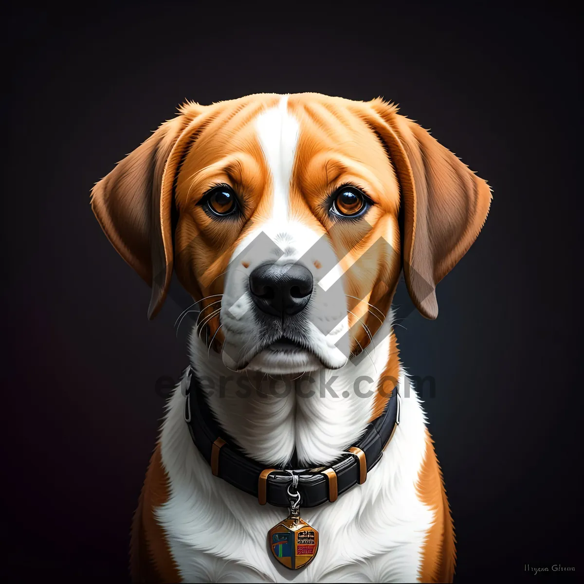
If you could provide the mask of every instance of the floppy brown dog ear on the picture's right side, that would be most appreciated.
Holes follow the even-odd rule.
[[[436,284],[468,251],[485,223],[491,189],[397,107],[374,99],[366,121],[391,158],[402,194],[402,256],[409,295],[420,314],[438,315]]]

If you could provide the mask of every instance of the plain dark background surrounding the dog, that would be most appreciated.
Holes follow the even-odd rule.
[[[186,366],[182,307],[148,321],[150,291],[93,217],[93,183],[185,99],[317,91],[398,102],[493,189],[438,319],[397,331],[409,371],[436,381],[425,407],[457,581],[527,578],[524,564],[581,577],[581,22],[568,6],[20,2],[6,15],[9,572],[127,578],[164,407],[155,381]]]

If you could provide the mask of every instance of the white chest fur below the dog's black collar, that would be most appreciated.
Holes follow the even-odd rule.
[[[319,531],[319,551],[307,568],[293,572],[277,564],[266,543],[267,531],[286,510],[260,506],[211,474],[183,419],[185,398],[175,390],[161,436],[169,500],[155,513],[183,579],[414,582],[433,511],[415,491],[426,448],[425,416],[411,387],[401,395],[401,423],[367,481],[335,503],[301,509]]]

